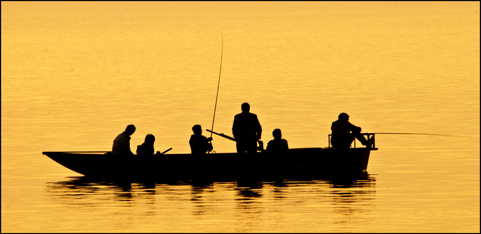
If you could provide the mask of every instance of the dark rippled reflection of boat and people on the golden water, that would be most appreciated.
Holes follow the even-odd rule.
[[[376,193],[376,179],[368,173],[349,179],[259,182],[255,187],[239,187],[237,181],[136,184],[96,181],[85,176],[68,178],[47,185],[49,197],[67,208],[130,207],[123,211],[134,209],[140,215],[157,216],[165,215],[165,209],[172,209],[184,218],[244,214],[245,219],[255,219],[266,212],[309,214],[311,209],[325,212],[325,208],[338,214],[369,212],[374,207]]]

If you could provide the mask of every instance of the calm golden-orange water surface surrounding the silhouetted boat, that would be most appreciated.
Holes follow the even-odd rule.
[[[133,149],[190,153],[222,45],[216,132],[248,102],[290,148],[326,147],[341,112],[467,137],[377,135],[365,178],[250,189],[89,181],[41,154],[109,151],[128,124]],[[477,1],[1,2],[1,232],[479,233],[479,137]]]

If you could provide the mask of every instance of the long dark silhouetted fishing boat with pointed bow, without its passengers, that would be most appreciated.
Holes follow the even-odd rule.
[[[220,135],[220,134],[218,134]],[[364,134],[374,138],[374,134]],[[330,138],[330,135],[329,135]],[[366,171],[375,144],[366,148],[297,148],[250,154],[113,155],[109,152],[42,152],[89,177],[150,181],[279,181],[355,176]]]

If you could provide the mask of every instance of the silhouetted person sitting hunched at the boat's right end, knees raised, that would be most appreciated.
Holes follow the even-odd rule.
[[[338,119],[332,122],[331,145],[335,148],[349,148],[355,138],[361,142],[363,146],[371,148],[372,139],[369,141],[361,135],[361,128],[349,123],[349,115],[340,113]]]

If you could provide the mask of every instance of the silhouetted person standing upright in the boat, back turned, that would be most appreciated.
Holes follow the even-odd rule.
[[[241,110],[240,114],[234,116],[232,125],[237,153],[255,153],[257,152],[257,141],[260,140],[262,134],[262,127],[257,115],[249,112],[249,103],[242,103]]]

